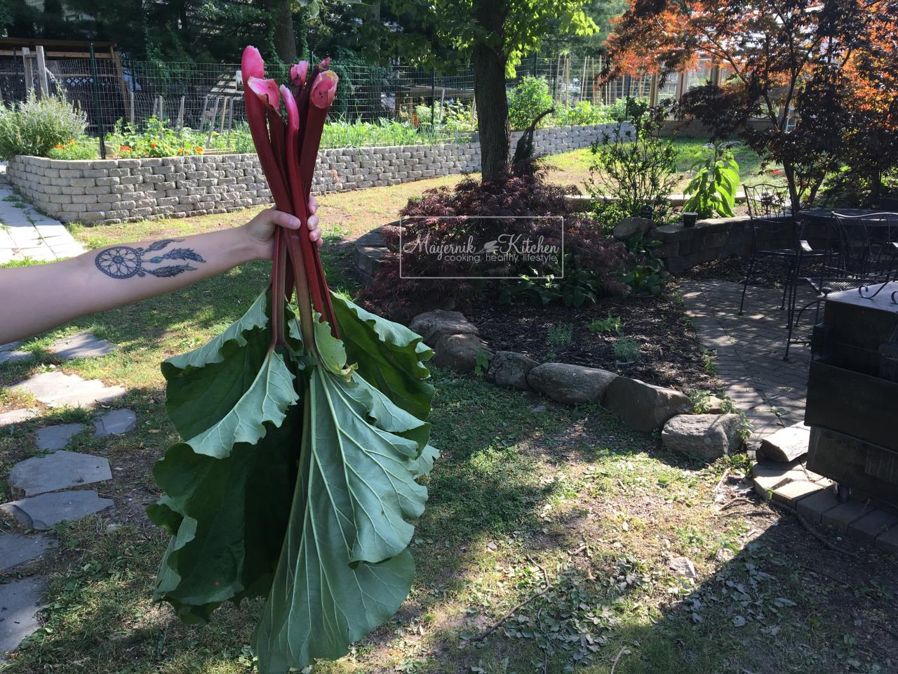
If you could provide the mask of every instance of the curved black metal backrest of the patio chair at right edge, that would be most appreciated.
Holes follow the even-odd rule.
[[[898,262],[898,213],[850,215],[833,211],[832,221],[841,270],[858,279],[893,275]]]

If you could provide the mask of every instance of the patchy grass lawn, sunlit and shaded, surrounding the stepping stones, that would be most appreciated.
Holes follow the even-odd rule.
[[[328,195],[324,257],[336,288],[353,292],[340,242],[396,217],[427,185]],[[227,216],[75,227],[89,246],[186,235],[246,220]],[[166,537],[145,518],[157,496],[154,460],[177,440],[163,402],[161,360],[205,343],[264,288],[254,262],[166,297],[86,316],[30,341],[29,362],[0,366],[0,411],[34,404],[8,388],[56,368],[128,386],[115,406],[137,414],[123,436],[76,436],[68,447],[108,457],[114,479],[98,487],[112,511],[57,529],[57,554],[31,568],[50,576],[45,625],[4,674],[236,674],[250,672],[248,644],[260,603],[223,607],[210,625],[182,625],[150,596]],[[66,363],[43,349],[91,330],[121,349]],[[894,559],[865,550],[860,563],[829,550],[795,519],[718,490],[745,457],[702,466],[658,448],[655,435],[623,428],[595,406],[570,409],[435,368],[433,442],[442,457],[412,544],[418,575],[387,625],[314,674],[489,672],[529,674],[779,674],[898,670]],[[540,407],[545,405],[545,407]],[[0,481],[37,453],[34,430],[87,421],[44,409],[0,430]],[[4,500],[10,496],[0,482]],[[4,524],[4,528],[11,525]],[[686,556],[698,579],[669,568]],[[0,577],[3,581],[4,577]],[[471,641],[509,609],[488,638]],[[617,661],[616,665],[613,663]]]

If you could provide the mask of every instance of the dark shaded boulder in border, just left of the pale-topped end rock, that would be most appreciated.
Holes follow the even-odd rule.
[[[605,392],[604,405],[631,429],[660,429],[675,414],[692,411],[689,397],[670,388],[618,377]]]

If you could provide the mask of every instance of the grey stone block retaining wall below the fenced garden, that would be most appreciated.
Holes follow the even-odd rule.
[[[540,129],[537,152],[589,146],[617,124]],[[514,149],[521,132],[512,134]],[[357,190],[466,173],[480,168],[480,142],[322,150],[315,193]],[[148,217],[224,213],[267,204],[271,192],[256,155],[196,155],[66,161],[15,156],[9,182],[35,206],[64,222],[117,223]]]

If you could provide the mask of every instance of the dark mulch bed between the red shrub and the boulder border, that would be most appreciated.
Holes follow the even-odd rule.
[[[602,297],[589,306],[471,303],[464,314],[480,328],[490,350],[524,353],[540,362],[561,362],[612,370],[650,384],[713,390],[717,380],[706,367],[700,343],[683,314],[675,288],[661,297]],[[620,364],[612,354],[618,335],[591,333],[588,325],[608,313],[621,317],[621,337],[639,343],[639,359]],[[549,342],[550,328],[572,326],[568,346]]]

